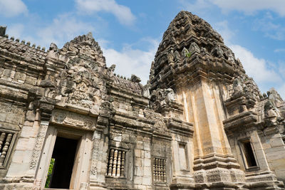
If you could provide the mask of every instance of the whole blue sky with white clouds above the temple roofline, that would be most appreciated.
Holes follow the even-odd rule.
[[[115,73],[146,83],[162,35],[181,10],[221,33],[262,93],[274,87],[285,97],[284,0],[0,0],[0,25],[46,48],[91,31]]]

